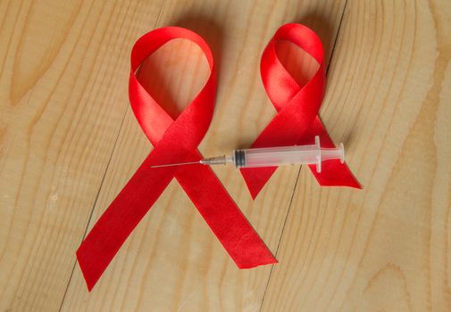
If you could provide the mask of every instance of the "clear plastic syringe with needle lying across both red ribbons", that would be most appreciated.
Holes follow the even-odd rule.
[[[320,137],[314,137],[312,145],[280,146],[251,148],[235,150],[231,156],[217,156],[205,158],[193,162],[180,162],[165,165],[156,165],[152,168],[203,164],[203,165],[226,165],[234,164],[236,168],[275,167],[281,165],[314,164],[316,171],[321,172],[322,161],[340,160],[345,161],[345,148],[339,144],[338,148],[322,148]]]

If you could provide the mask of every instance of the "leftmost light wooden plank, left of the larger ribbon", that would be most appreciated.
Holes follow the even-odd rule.
[[[0,4],[0,310],[60,308],[162,4]]]

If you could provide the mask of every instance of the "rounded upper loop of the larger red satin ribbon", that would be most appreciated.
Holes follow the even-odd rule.
[[[163,29],[155,29],[151,32],[152,36],[146,34],[140,37],[137,43],[133,46],[131,51],[131,66],[129,76],[129,100],[131,108],[135,113],[138,123],[143,129],[146,136],[152,144],[157,144],[163,137],[163,134],[169,127],[180,128],[179,124],[188,123],[192,125],[191,131],[196,131],[196,135],[190,135],[190,139],[196,139],[198,142],[192,142],[192,145],[197,146],[204,138],[206,130],[210,126],[213,117],[214,97],[216,94],[216,78],[214,74],[213,54],[205,43],[202,37],[196,33],[179,27],[167,27]],[[208,66],[210,68],[210,77],[207,79],[205,86],[196,95],[195,99],[189,103],[188,107],[181,112],[180,116],[174,120],[171,116],[163,110],[159,103],[147,93],[146,89],[138,82],[135,72],[138,70],[142,62],[154,53],[160,46],[166,44],[172,39],[185,38],[196,43],[205,53]],[[202,115],[198,118],[198,113]],[[195,119],[196,123],[193,123]],[[181,129],[183,131],[183,129]],[[181,144],[186,144],[186,140]],[[192,149],[192,148],[191,148]]]

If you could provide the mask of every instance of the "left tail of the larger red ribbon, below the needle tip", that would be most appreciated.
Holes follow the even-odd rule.
[[[123,242],[171,182],[173,171],[150,168],[150,155],[77,250],[77,260],[88,291],[96,285]]]

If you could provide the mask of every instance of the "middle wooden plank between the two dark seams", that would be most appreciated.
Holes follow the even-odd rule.
[[[201,152],[215,155],[248,146],[271,120],[274,109],[260,81],[259,62],[274,31],[285,22],[303,21],[319,31],[329,55],[343,8],[344,2],[327,1],[167,1],[158,25],[196,30],[212,46],[219,65],[216,111]],[[147,87],[157,94],[165,89],[170,95],[157,96],[179,109],[207,74],[202,55],[187,43],[168,44],[149,62],[149,73],[146,68],[142,71],[149,78]],[[90,226],[150,150],[128,111]],[[275,251],[298,168],[278,170],[256,201],[234,168],[214,170]],[[180,185],[172,181],[91,293],[76,267],[63,310],[256,311],[270,270],[270,266],[239,270]]]

